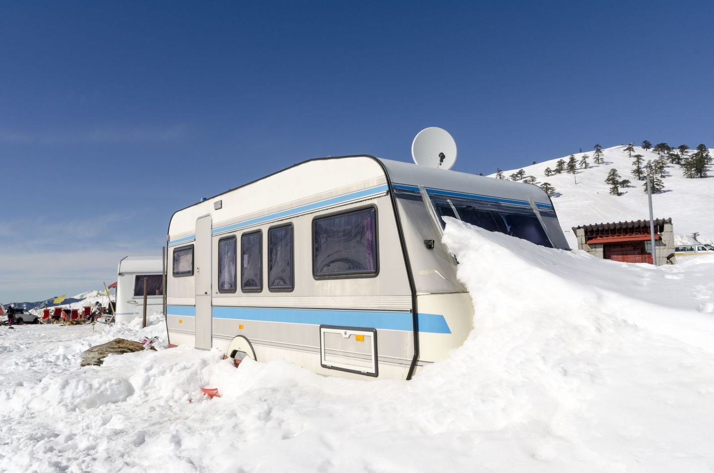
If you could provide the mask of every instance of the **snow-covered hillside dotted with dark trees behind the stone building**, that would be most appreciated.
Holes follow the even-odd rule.
[[[638,181],[632,175],[632,159],[625,147],[603,149],[603,164],[593,164],[593,150],[575,153],[578,163],[583,154],[588,154],[591,166],[588,169],[579,168],[575,174],[563,172],[545,176],[546,168],[555,169],[558,159],[568,161],[569,156],[523,167],[526,176],[535,176],[536,185],[548,182],[555,188],[557,194],[552,198],[553,205],[571,248],[578,247],[573,226],[650,218],[647,194],[643,191],[645,181]],[[658,158],[657,153],[640,146],[635,146],[633,154],[643,155],[645,163]],[[621,189],[625,194],[609,194],[610,185],[605,184],[605,177],[610,169],[617,169],[622,179],[630,180],[631,186]],[[503,174],[508,178],[516,171],[518,169],[503,171]],[[663,179],[663,192],[652,196],[654,218],[671,217],[678,241],[688,241],[688,236],[697,232],[699,242],[714,242],[714,219],[710,218],[714,214],[714,171],[703,179],[686,179],[676,164],[669,164],[667,171],[669,176]]]

